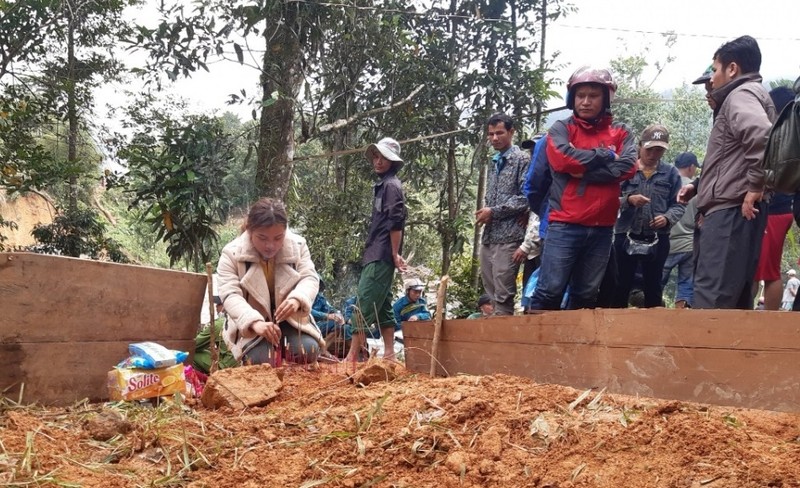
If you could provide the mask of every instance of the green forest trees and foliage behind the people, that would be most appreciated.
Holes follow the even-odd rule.
[[[0,0],[0,188],[5,199],[35,192],[58,209],[30,250],[202,271],[255,199],[278,197],[340,304],[355,290],[371,211],[363,150],[392,136],[406,160],[412,273],[431,284],[449,274],[451,314],[473,310],[481,289],[473,214],[491,156],[484,121],[511,114],[519,142],[565,116],[564,61],[547,34],[573,5],[144,6],[157,14],[137,17],[143,5],[133,0]],[[678,38],[662,33],[666,54],[626,47],[610,63],[615,116],[636,133],[666,125],[667,161],[683,151],[702,159],[711,127],[701,88],[654,88]],[[232,67],[252,68],[242,85],[254,88],[216,87],[230,110],[198,111],[170,94],[181,79]],[[124,102],[98,101],[110,86],[125,87]],[[0,217],[0,248],[14,225]],[[797,258],[795,232],[789,241],[786,267]]]

